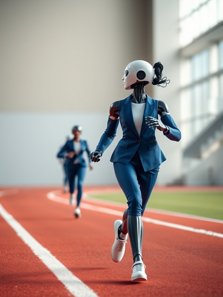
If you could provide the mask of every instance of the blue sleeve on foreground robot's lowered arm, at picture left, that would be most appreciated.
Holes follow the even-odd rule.
[[[107,128],[100,138],[100,141],[96,147],[96,151],[99,150],[103,154],[104,151],[109,147],[109,145],[112,143],[112,141],[114,140],[114,138],[116,136],[118,124],[119,124],[119,119],[112,120],[109,117],[108,123],[107,123]]]

